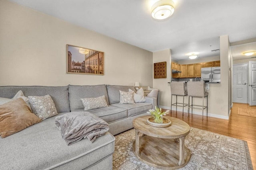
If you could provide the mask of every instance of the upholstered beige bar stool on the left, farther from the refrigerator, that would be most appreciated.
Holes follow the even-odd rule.
[[[182,116],[184,114],[184,107],[188,106],[188,104],[184,104],[184,97],[188,95],[187,90],[185,89],[185,81],[182,82],[170,82],[171,85],[171,113],[172,113],[172,106],[176,106],[176,112],[177,112],[177,106],[182,107]],[[172,103],[172,96],[176,96],[176,103]],[[183,96],[183,103],[178,103],[177,96]],[[182,104],[177,105],[177,104]]]

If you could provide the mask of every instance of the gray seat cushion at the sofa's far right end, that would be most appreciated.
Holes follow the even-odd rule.
[[[140,113],[145,113],[149,109],[152,109],[152,104],[150,103],[136,103],[136,104],[112,104],[111,106],[122,107],[128,110],[128,117],[138,115]]]

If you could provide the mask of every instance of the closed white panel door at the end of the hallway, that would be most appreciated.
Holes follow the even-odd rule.
[[[233,102],[247,103],[247,64],[233,65]]]

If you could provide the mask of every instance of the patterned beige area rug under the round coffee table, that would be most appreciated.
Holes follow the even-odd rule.
[[[135,130],[116,137],[113,170],[158,170],[138,160],[132,151]],[[180,170],[252,170],[246,141],[190,127],[185,138],[191,158]]]

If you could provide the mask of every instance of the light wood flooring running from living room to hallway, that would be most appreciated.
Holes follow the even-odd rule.
[[[182,117],[182,112],[177,111],[176,113],[174,110],[172,110],[172,115],[169,113],[168,116],[181,119],[191,127],[247,141],[252,165],[254,170],[256,170],[256,117],[238,115],[238,107],[256,109],[256,106],[233,103],[229,120],[206,116],[202,120],[202,115],[190,114],[190,117],[187,117],[185,112]]]

